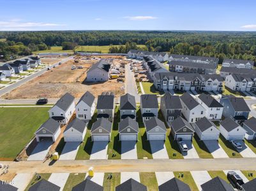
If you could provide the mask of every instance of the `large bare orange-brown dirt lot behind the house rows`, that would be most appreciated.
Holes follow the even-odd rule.
[[[45,72],[34,80],[31,80],[19,88],[3,95],[5,99],[29,99],[38,97],[59,98],[69,92],[75,97],[80,97],[89,90],[95,96],[102,92],[112,91],[116,96],[124,93],[124,83],[109,80],[103,83],[87,83],[86,71],[96,59],[79,59],[79,63],[70,60]],[[127,62],[126,60],[114,60],[114,63]],[[72,70],[72,66],[83,66],[83,69]]]

